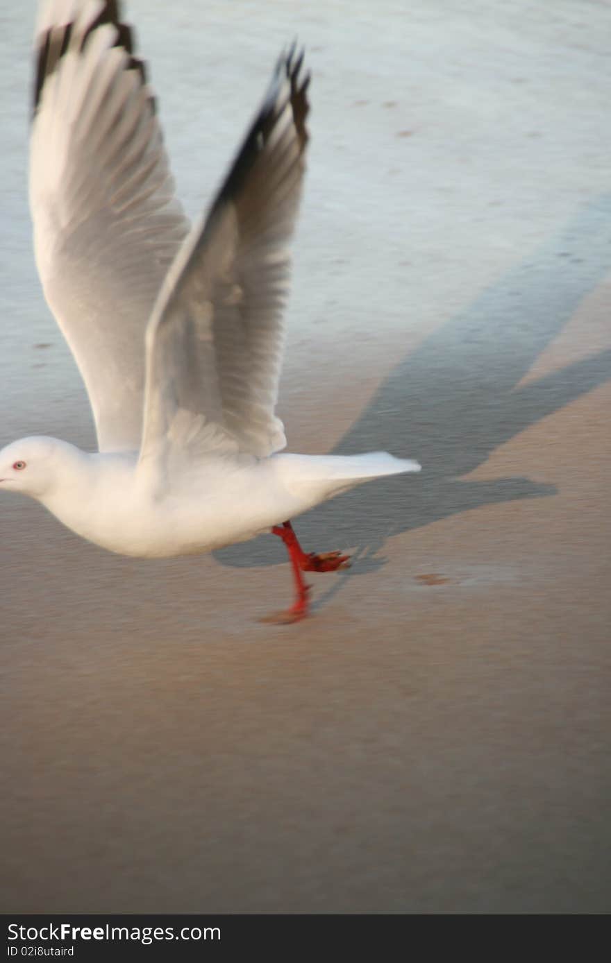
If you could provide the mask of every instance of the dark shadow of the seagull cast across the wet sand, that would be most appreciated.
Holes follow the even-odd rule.
[[[300,518],[306,549],[357,546],[353,568],[333,580],[319,605],[346,578],[383,565],[380,551],[389,535],[466,509],[556,492],[527,477],[461,476],[611,377],[611,351],[602,351],[517,387],[610,265],[611,195],[603,195],[397,365],[333,454],[386,450],[417,458],[423,469],[353,489]],[[526,475],[529,465],[523,470]],[[214,556],[235,567],[286,561],[279,540],[268,535]]]

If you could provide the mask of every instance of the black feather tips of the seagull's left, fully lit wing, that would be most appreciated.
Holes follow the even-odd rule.
[[[128,70],[137,70],[140,73],[143,85],[146,84],[146,64],[140,57],[134,56],[134,30],[133,27],[120,19],[120,3],[118,0],[104,0],[102,10],[93,18],[87,30],[83,33],[80,49],[83,50],[93,31],[105,24],[111,24],[117,30],[117,39],[113,46],[122,47],[125,53],[129,54],[129,61],[126,68]],[[55,32],[62,28],[63,34],[60,33],[59,36],[52,39],[51,31],[53,30]],[[45,81],[57,69],[62,57],[66,54],[73,29],[74,21],[66,24],[58,24],[55,28],[48,28],[38,39],[33,96],[34,116],[36,116],[40,105],[40,98]],[[154,111],[155,101],[153,97],[150,98],[150,104],[151,109]]]

